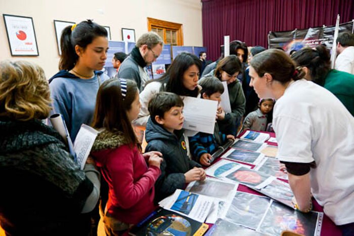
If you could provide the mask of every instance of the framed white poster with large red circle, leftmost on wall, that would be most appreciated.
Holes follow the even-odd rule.
[[[3,14],[11,56],[39,56],[32,17]]]

